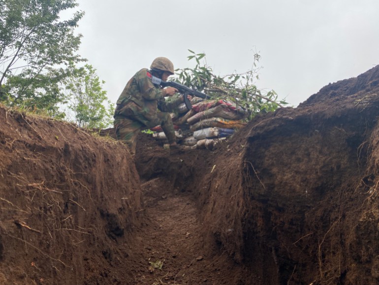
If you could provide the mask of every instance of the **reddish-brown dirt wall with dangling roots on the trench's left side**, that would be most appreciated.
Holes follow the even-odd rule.
[[[125,146],[4,107],[0,118],[0,284],[130,277],[120,258],[143,205]]]

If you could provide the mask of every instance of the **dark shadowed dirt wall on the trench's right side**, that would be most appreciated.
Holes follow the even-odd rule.
[[[262,284],[379,281],[377,75],[259,116],[220,150],[206,218]]]

